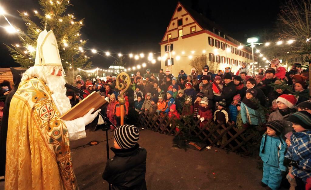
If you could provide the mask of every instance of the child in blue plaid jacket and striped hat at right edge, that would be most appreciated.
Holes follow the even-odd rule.
[[[291,145],[284,159],[284,166],[293,166],[291,175],[295,176],[296,189],[305,189],[311,177],[311,114],[307,111],[296,112],[287,119],[293,124],[295,132],[290,137]]]

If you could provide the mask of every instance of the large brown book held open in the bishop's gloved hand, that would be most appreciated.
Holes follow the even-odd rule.
[[[86,96],[77,105],[69,109],[60,118],[66,121],[77,119],[83,117],[90,109],[95,108],[94,112],[102,107],[104,104],[108,103],[107,99],[104,99],[97,92],[92,92],[90,95]]]

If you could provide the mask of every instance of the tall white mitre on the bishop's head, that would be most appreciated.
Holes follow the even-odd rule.
[[[57,65],[63,66],[59,56],[57,41],[52,30],[43,30],[37,40],[35,66]]]

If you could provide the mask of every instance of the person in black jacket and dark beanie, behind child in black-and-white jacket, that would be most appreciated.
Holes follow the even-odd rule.
[[[214,96],[214,100],[219,102],[220,100],[226,100],[226,106],[229,106],[233,100],[234,95],[236,94],[236,87],[232,81],[232,76],[229,72],[224,74],[225,85],[222,89],[221,96]]]

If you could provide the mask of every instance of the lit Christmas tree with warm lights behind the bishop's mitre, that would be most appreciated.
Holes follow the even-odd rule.
[[[67,7],[71,5],[69,1],[39,0],[39,4],[42,7],[41,11],[34,11],[34,16],[37,18],[33,18],[26,12],[20,12],[27,30],[24,32],[17,28],[21,43],[7,45],[7,48],[12,58],[21,64],[21,67],[33,66],[39,33],[43,30],[53,30],[67,80],[73,82],[79,72],[77,68],[89,68],[92,64],[88,61],[90,57],[86,55],[83,48],[86,40],[81,39],[83,19],[76,21],[73,14],[66,14]]]

